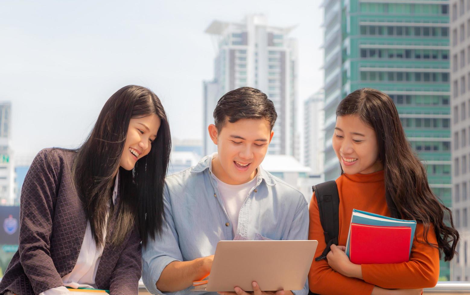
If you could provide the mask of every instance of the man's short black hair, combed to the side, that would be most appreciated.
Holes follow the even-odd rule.
[[[217,102],[213,116],[218,132],[225,126],[226,117],[230,123],[264,118],[269,121],[271,130],[277,119],[273,101],[262,91],[251,87],[240,87],[224,94]]]

